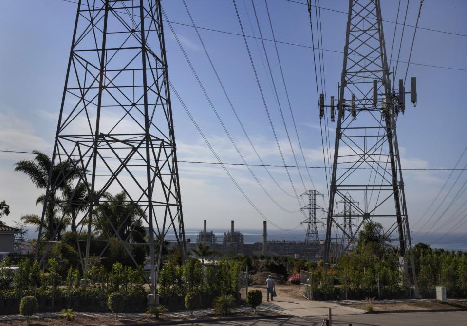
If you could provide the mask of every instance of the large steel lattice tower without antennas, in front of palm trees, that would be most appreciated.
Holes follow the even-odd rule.
[[[72,205],[82,212],[75,233],[83,272],[91,255],[106,255],[110,240],[135,264],[134,248],[144,248],[154,294],[168,232],[186,256],[160,0],[78,1],[52,162],[68,169],[55,177],[51,169],[38,235],[41,262],[58,232],[49,228],[43,243],[46,207]],[[73,189],[81,185],[86,195],[78,199],[73,191],[62,200],[57,184],[70,171],[77,172]],[[109,196],[117,193],[123,193],[119,200]],[[149,240],[132,240],[144,226]]]

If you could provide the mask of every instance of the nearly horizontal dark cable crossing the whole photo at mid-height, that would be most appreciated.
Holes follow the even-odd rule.
[[[28,151],[13,151],[13,150],[0,150],[0,153],[14,153],[14,154],[35,154],[34,152]],[[43,153],[46,155],[52,155],[50,153]],[[86,155],[70,155],[71,157],[91,157]],[[102,158],[108,159],[116,159],[115,157],[107,157],[102,156]],[[132,158],[133,160],[137,161],[145,161],[144,158]],[[244,164],[244,163],[217,163],[217,162],[207,162],[207,161],[188,161],[188,160],[177,160],[177,163],[187,163],[187,164],[206,164],[206,165],[237,165],[237,166],[255,166],[255,167],[271,167],[271,168],[303,168],[303,169],[327,169],[324,166],[313,166],[313,165],[281,165],[281,164]],[[355,168],[345,168],[345,167],[337,167],[337,169],[352,169],[352,170],[382,170],[380,168],[364,168],[364,167],[355,167]],[[460,168],[460,169],[449,169],[449,168],[402,168],[402,170],[406,171],[466,171],[467,168]]]

